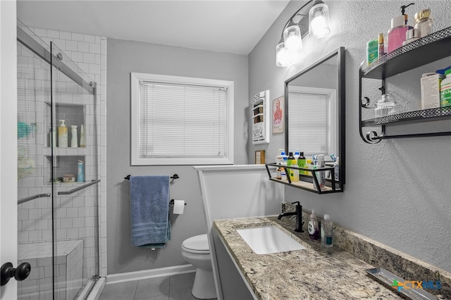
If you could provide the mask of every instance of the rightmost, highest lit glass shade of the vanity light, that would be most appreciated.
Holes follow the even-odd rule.
[[[329,32],[329,8],[323,1],[315,1],[309,11],[309,37],[321,39]]]

